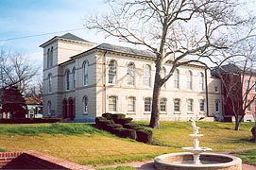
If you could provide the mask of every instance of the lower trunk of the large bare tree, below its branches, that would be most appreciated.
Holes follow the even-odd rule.
[[[159,69],[156,70],[156,75],[155,75],[155,83],[154,83],[154,90],[153,90],[153,101],[152,101],[152,110],[151,110],[151,118],[150,118],[150,124],[149,127],[152,128],[160,128],[160,122],[159,122],[159,95],[160,95],[160,90],[161,90],[161,85],[160,85],[160,74],[159,74]]]

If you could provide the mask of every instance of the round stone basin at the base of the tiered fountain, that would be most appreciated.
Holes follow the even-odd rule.
[[[242,160],[225,154],[202,153],[201,164],[194,164],[192,153],[171,153],[155,158],[159,170],[242,170]]]

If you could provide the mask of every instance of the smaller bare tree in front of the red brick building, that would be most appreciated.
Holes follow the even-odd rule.
[[[227,65],[222,65],[212,72],[221,79],[225,114],[234,116],[235,130],[239,130],[240,123],[247,113],[253,116],[251,106],[256,101],[255,50],[255,39],[244,41],[237,46],[236,52],[232,52],[237,54],[235,59],[228,59]]]

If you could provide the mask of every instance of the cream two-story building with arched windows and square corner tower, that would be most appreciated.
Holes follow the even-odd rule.
[[[155,56],[145,50],[96,44],[67,33],[44,42],[43,115],[92,122],[104,112],[149,120]],[[163,64],[162,75],[172,62]],[[221,83],[198,63],[179,67],[162,87],[161,119],[221,118]]]

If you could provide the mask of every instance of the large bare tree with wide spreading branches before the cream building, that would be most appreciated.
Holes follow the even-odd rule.
[[[150,127],[159,127],[159,95],[176,68],[208,59],[219,63],[220,51],[249,37],[254,18],[238,16],[236,0],[109,0],[111,13],[89,18],[85,26],[146,47],[156,55]],[[240,12],[240,14],[245,14]],[[243,28],[242,28],[243,27]],[[247,30],[245,31],[245,28]],[[239,32],[239,34],[237,34]],[[236,36],[231,36],[236,35]],[[162,64],[172,68],[161,76]]]

